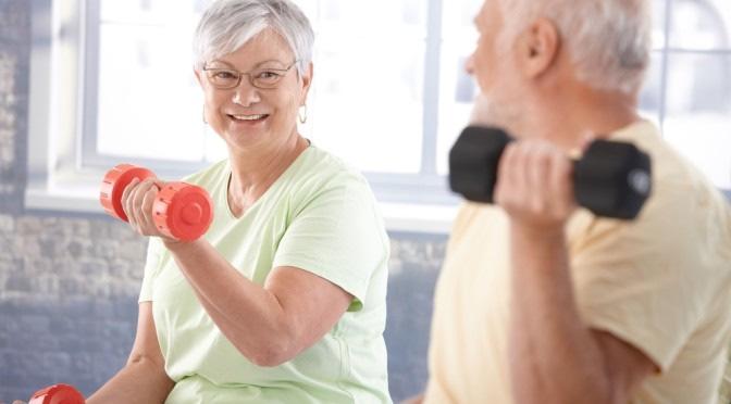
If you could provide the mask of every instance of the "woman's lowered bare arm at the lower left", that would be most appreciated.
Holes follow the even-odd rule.
[[[152,320],[152,303],[139,304],[137,336],[127,364],[87,404],[163,403],[175,383],[168,377]]]

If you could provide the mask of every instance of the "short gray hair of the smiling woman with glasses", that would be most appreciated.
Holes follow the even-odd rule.
[[[218,0],[198,23],[193,41],[194,63],[234,52],[264,28],[272,28],[289,45],[302,75],[312,61],[314,33],[305,13],[289,0]]]

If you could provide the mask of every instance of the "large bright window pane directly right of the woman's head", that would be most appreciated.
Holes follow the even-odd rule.
[[[426,5],[321,2],[306,136],[366,172],[419,173]]]

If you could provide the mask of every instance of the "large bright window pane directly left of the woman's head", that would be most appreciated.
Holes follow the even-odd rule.
[[[98,152],[203,157],[202,96],[191,73],[190,29],[181,25],[101,25]]]

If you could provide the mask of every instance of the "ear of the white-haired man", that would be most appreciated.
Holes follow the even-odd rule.
[[[538,18],[522,33],[518,46],[523,73],[529,77],[537,77],[556,64],[561,37],[550,20]]]

